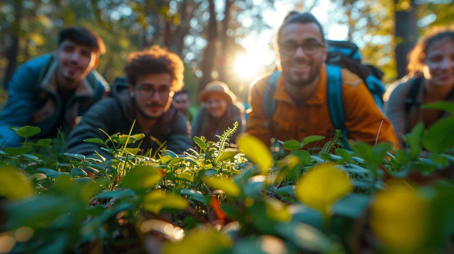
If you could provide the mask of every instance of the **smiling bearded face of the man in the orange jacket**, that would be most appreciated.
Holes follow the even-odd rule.
[[[281,31],[279,45],[302,45],[308,41],[321,43],[320,28],[314,23],[290,23]],[[302,47],[297,47],[295,53],[288,54],[280,50],[282,74],[286,86],[303,87],[316,82],[320,74],[321,64],[326,61],[327,50],[319,45],[315,53],[307,54]]]

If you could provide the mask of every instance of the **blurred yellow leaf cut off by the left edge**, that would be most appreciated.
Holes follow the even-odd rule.
[[[0,168],[0,195],[16,199],[32,193],[34,193],[32,186],[23,180],[18,170],[10,167]]]

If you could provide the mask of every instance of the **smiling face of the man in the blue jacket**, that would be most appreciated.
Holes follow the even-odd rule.
[[[57,77],[67,83],[81,81],[98,64],[98,57],[93,49],[68,39],[62,41],[55,50],[54,59],[59,62]]]

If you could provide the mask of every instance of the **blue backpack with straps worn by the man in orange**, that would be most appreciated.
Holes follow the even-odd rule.
[[[328,57],[326,59],[327,72],[327,102],[331,122],[334,127],[341,130],[344,139],[344,147],[349,147],[346,137],[344,104],[342,103],[342,72],[341,68],[347,68],[358,75],[366,84],[370,93],[375,99],[377,107],[383,110],[383,93],[385,87],[381,82],[383,73],[372,65],[361,64],[361,57],[358,47],[349,41],[326,41],[328,45]],[[281,74],[276,70],[271,74],[263,96],[263,110],[271,123],[272,115],[276,109],[276,100],[273,99],[276,91],[277,79]]]

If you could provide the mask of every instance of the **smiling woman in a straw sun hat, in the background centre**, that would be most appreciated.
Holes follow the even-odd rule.
[[[237,135],[244,132],[246,120],[244,107],[236,103],[235,94],[221,81],[213,81],[207,84],[199,93],[202,107],[192,123],[192,134],[196,137],[207,137],[208,141],[219,141],[227,128],[232,128],[234,122],[238,122],[237,131],[230,138],[235,143]]]

